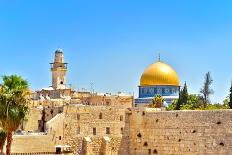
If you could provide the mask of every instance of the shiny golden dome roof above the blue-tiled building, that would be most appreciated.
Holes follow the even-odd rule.
[[[179,86],[179,77],[169,65],[158,61],[145,69],[140,79],[140,86]]]

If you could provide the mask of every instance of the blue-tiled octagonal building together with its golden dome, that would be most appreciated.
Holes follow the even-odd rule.
[[[149,104],[158,94],[165,99],[164,104],[169,105],[178,99],[179,90],[180,81],[176,71],[159,59],[144,70],[140,78],[139,97],[135,99],[135,105]]]

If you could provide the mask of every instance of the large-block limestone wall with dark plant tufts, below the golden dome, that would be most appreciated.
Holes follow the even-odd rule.
[[[127,112],[126,154],[231,154],[232,111]],[[124,139],[127,135],[124,135]]]

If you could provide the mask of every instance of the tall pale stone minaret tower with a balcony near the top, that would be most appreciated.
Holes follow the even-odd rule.
[[[54,89],[65,89],[67,63],[64,62],[64,54],[61,49],[56,50],[54,62],[50,64],[52,72],[52,87]]]

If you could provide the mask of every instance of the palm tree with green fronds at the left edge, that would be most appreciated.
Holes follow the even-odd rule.
[[[12,135],[28,113],[28,82],[17,75],[3,76],[0,89],[0,121],[6,131],[6,154],[10,155]]]

